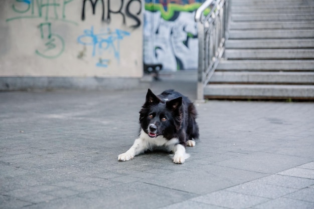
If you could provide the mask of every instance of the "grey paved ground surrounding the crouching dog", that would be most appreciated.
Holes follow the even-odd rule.
[[[192,73],[163,76],[195,99]],[[197,104],[201,137],[174,164],[133,143],[146,89],[0,93],[0,208],[314,208],[314,104]]]

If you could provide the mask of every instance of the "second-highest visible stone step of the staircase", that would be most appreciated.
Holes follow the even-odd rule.
[[[301,6],[301,7],[293,7],[293,6],[286,6],[286,5],[273,5],[273,6],[232,6],[232,14],[258,14],[258,13],[311,13],[314,11],[314,6]]]

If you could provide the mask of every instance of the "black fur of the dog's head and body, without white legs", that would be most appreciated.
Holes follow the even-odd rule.
[[[196,108],[179,92],[166,90],[156,96],[148,89],[139,114],[140,126],[149,137],[178,138],[184,146],[188,140],[199,138]]]

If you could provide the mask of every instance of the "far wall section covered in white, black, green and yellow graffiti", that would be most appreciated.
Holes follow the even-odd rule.
[[[197,69],[195,11],[204,0],[145,0],[144,63],[169,71]]]

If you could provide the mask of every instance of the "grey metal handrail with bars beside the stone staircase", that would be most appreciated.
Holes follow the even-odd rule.
[[[205,16],[207,10],[210,12]],[[195,13],[199,40],[198,100],[204,99],[204,87],[210,81],[223,55],[224,42],[228,35],[228,20],[228,0],[207,0]]]

